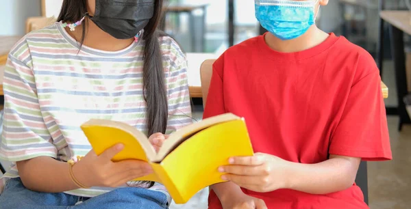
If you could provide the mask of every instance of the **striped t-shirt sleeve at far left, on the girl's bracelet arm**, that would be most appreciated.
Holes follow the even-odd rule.
[[[9,55],[5,66],[5,98],[0,158],[24,161],[38,156],[56,158],[57,149],[40,111],[28,48],[24,43]]]

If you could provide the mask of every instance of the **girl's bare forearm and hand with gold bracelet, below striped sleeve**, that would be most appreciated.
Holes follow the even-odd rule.
[[[121,186],[136,178],[152,173],[150,165],[142,161],[121,161],[111,159],[124,145],[114,145],[97,156],[90,151],[81,161],[73,165],[73,175],[84,186]],[[27,189],[45,193],[61,193],[79,189],[69,173],[69,165],[47,156],[39,156],[17,163],[23,184]]]

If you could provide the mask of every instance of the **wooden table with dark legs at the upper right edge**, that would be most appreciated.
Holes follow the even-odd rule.
[[[386,23],[389,23],[390,26],[391,51],[393,53],[395,80],[397,82],[398,130],[401,130],[403,124],[411,124],[406,104],[403,102],[403,98],[408,95],[403,34],[405,32],[411,35],[411,12],[384,10],[379,13],[379,16]]]

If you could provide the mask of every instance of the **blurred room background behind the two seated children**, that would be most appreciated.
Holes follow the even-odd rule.
[[[0,70],[8,51],[25,33],[53,23],[62,0],[0,0]],[[362,163],[356,182],[372,209],[411,208],[411,0],[330,0],[317,25],[369,51],[388,89],[385,99],[394,160]],[[193,113],[201,120],[200,66],[227,48],[264,33],[253,0],[169,0],[160,29],[173,36],[188,59]],[[2,92],[2,91],[0,91]],[[408,111],[407,111],[408,109]],[[8,169],[8,162],[1,162]],[[1,174],[0,174],[1,175]],[[206,208],[208,190],[188,204]]]

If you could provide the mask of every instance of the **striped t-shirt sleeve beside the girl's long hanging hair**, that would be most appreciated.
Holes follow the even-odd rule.
[[[166,134],[173,133],[192,123],[186,56],[171,38],[168,44],[170,60],[166,80],[169,95],[169,120]]]

